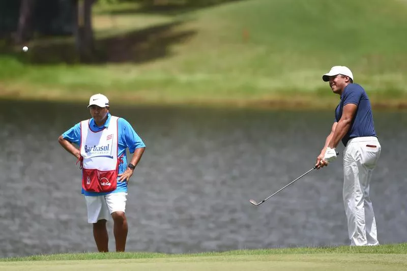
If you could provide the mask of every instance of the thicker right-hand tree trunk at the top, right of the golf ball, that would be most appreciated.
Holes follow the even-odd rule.
[[[92,5],[94,2],[95,0],[74,0],[75,45],[81,62],[89,62],[93,57]]]

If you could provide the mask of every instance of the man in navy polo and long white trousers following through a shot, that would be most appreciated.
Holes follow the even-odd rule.
[[[369,98],[362,86],[353,83],[353,74],[347,67],[334,66],[322,79],[340,96],[340,102],[331,133],[315,166],[319,169],[335,160],[335,147],[342,140],[345,146],[343,203],[351,246],[379,245],[369,185],[381,146],[374,130]]]

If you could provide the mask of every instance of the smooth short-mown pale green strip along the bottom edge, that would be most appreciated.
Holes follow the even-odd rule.
[[[208,256],[160,259],[74,260],[0,263],[0,270],[8,271],[405,271],[407,255],[341,254],[341,255],[255,255]]]

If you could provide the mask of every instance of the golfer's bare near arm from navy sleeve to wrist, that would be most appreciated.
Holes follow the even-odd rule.
[[[356,104],[346,104],[343,106],[342,116],[336,125],[335,131],[331,140],[328,143],[328,147],[336,148],[339,141],[346,135],[352,125],[352,120],[355,116],[358,106]]]

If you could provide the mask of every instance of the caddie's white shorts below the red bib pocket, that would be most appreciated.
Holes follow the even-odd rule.
[[[110,214],[125,212],[126,192],[110,193],[104,196],[84,196],[88,209],[88,223],[96,223],[99,220],[110,220]]]

